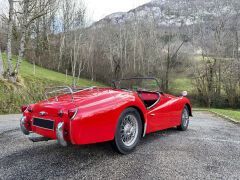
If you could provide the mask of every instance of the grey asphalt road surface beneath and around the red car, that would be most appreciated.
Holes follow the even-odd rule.
[[[0,120],[0,179],[240,179],[240,126],[209,113],[196,112],[188,131],[146,136],[125,156],[109,143],[32,143],[17,121],[2,131],[6,120]]]

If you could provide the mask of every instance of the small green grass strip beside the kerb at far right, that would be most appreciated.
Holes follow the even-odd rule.
[[[232,109],[209,109],[210,112],[215,112],[219,115],[229,117],[231,119],[240,122],[240,110],[232,110]]]

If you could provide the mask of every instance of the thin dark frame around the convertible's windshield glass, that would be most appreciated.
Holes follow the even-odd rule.
[[[126,80],[155,80],[156,81],[156,84],[157,84],[157,87],[158,87],[158,90],[157,91],[150,91],[150,90],[147,90],[149,92],[161,92],[160,90],[160,84],[159,84],[159,81],[157,80],[157,78],[154,78],[154,77],[131,77],[131,78],[122,78],[122,79],[119,79],[119,80],[114,80],[112,83],[113,83],[113,86],[115,89],[122,89],[122,90],[126,90],[124,88],[121,88],[121,87],[118,87],[116,83],[119,83],[121,81],[126,81]],[[128,91],[135,91],[133,89],[127,89]]]

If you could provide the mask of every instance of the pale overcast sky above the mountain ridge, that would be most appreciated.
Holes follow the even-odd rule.
[[[97,21],[114,12],[125,12],[150,0],[83,0],[89,19]],[[8,0],[0,0],[0,13],[6,12]],[[4,9],[4,11],[3,11]]]

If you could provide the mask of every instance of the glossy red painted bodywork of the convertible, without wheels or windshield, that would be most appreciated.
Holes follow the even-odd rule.
[[[72,144],[91,144],[111,141],[117,129],[121,113],[129,107],[135,108],[143,123],[142,136],[145,134],[178,126],[184,107],[191,115],[188,98],[154,92],[126,91],[116,88],[89,88],[69,94],[49,98],[39,103],[23,107],[22,127],[25,134],[33,132],[45,138],[57,139],[57,125],[62,122],[62,136]],[[156,98],[158,98],[156,100]],[[143,100],[156,102],[146,107]],[[53,122],[52,128],[34,125],[34,118]]]

